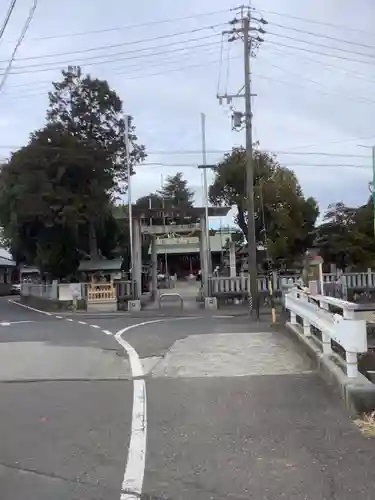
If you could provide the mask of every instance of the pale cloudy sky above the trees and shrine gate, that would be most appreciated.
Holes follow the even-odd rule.
[[[34,0],[18,0],[0,41],[4,73]],[[0,23],[10,0],[0,5]],[[182,171],[203,203],[201,113],[207,163],[244,143],[217,93],[244,83],[243,44],[222,31],[232,0],[39,0],[0,92],[0,159],[43,126],[51,82],[68,65],[107,79],[134,117],[148,157],[133,177],[136,199]],[[253,0],[265,19],[251,59],[253,139],[295,171],[324,214],[365,203],[375,144],[375,4],[372,0]],[[257,26],[254,20],[253,26]],[[109,47],[110,46],[110,47]],[[235,109],[243,111],[243,99]],[[210,180],[210,174],[209,174]],[[213,224],[228,224],[232,214]]]

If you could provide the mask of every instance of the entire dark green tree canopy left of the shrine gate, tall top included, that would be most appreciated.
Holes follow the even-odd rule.
[[[116,193],[126,189],[122,103],[108,82],[63,71],[47,122],[0,173],[0,224],[18,262],[62,278],[84,256],[110,257],[118,230]],[[131,162],[145,156],[129,119]]]

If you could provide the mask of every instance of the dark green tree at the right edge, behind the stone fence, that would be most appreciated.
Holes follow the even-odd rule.
[[[343,203],[330,205],[324,222],[316,230],[316,245],[325,262],[340,269],[375,266],[373,202],[359,208]]]

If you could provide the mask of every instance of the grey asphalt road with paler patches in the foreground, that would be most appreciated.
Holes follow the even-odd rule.
[[[58,318],[6,299],[0,320],[8,323],[0,324],[1,500],[120,498],[133,446],[133,382],[110,333],[126,328],[146,371],[138,498],[373,498],[373,441],[288,336],[266,323]]]

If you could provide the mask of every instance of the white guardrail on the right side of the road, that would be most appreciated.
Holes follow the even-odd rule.
[[[340,309],[342,313],[331,312],[330,306]],[[305,337],[313,336],[311,326],[320,330],[324,355],[334,355],[332,340],[339,344],[346,352],[346,374],[349,378],[358,375],[358,353],[367,352],[366,321],[355,318],[357,307],[357,304],[334,297],[311,296],[296,287],[285,294],[285,309],[290,311],[291,325],[295,328],[299,326],[298,316],[302,319],[301,328]]]

